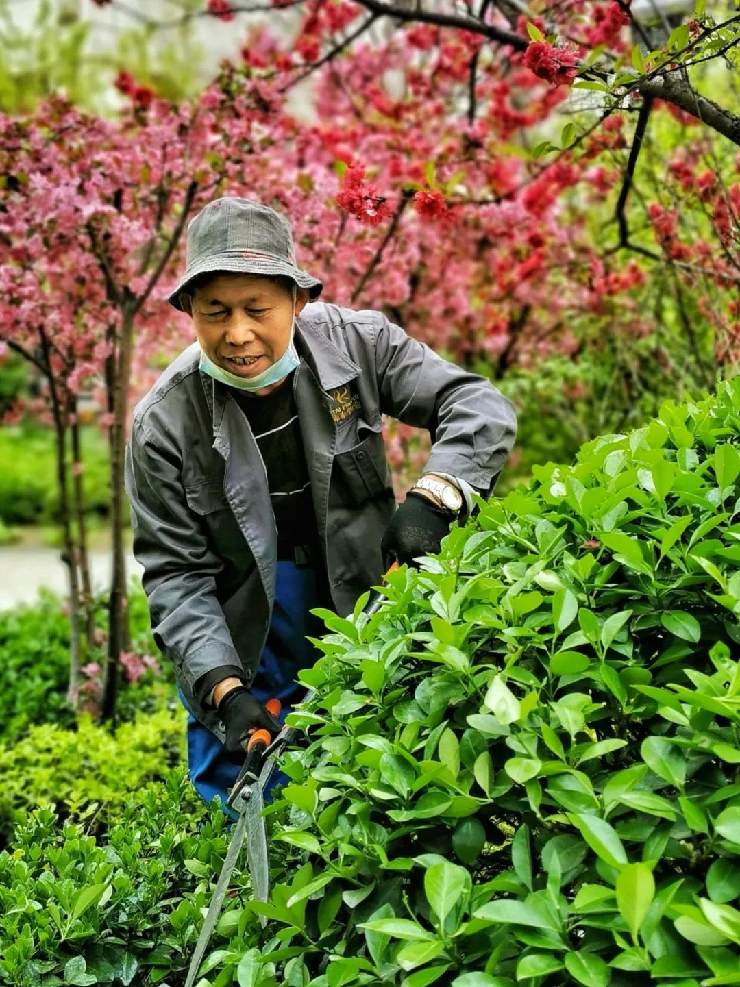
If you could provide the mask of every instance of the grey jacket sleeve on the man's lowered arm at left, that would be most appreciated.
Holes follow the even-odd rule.
[[[125,489],[154,641],[173,662],[181,685],[203,705],[216,669],[223,672],[216,681],[246,678],[216,598],[222,563],[188,506],[176,457],[140,422],[134,422],[126,448]]]

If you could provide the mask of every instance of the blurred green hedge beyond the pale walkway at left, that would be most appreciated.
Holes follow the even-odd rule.
[[[108,446],[99,428],[82,430],[83,490],[87,510],[111,508]],[[49,524],[59,519],[56,453],[51,428],[34,424],[0,429],[0,517],[6,524]]]

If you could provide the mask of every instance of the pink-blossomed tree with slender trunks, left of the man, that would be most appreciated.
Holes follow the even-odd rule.
[[[126,641],[123,556],[123,449],[134,330],[146,342],[167,340],[161,303],[152,297],[175,252],[197,193],[212,194],[207,167],[201,183],[190,155],[203,158],[207,133],[193,114],[162,107],[149,113],[138,90],[120,124],[85,116],[59,101],[38,116],[0,117],[5,176],[0,238],[2,338],[45,378],[57,437],[57,464],[72,607],[70,693],[79,685],[78,569],[70,516],[67,441],[76,431],[81,387],[98,386],[109,431],[114,528],[109,668],[104,713],[115,704],[118,658]],[[151,109],[151,108],[150,108]],[[194,151],[195,149],[195,151]],[[169,327],[174,331],[174,327]],[[156,331],[156,336],[154,333]],[[71,472],[82,471],[79,446]],[[78,506],[81,487],[72,486]],[[79,512],[81,515],[81,511]],[[80,528],[84,531],[84,528]],[[82,543],[84,547],[84,541]]]

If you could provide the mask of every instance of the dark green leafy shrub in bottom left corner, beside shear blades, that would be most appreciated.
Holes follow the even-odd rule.
[[[0,982],[141,987],[181,970],[225,852],[223,816],[205,812],[183,770],[129,797],[105,838],[35,809],[0,853]]]

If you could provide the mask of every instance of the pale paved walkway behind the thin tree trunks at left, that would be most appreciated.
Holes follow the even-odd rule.
[[[90,563],[93,587],[105,589],[111,579],[110,553],[94,552]],[[141,575],[141,567],[130,556],[126,571],[129,576]],[[34,603],[41,586],[61,594],[67,591],[67,569],[59,558],[58,549],[14,545],[0,548],[0,610]]]

